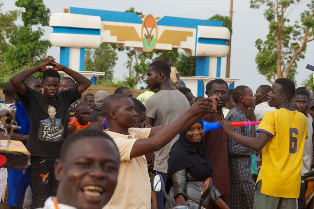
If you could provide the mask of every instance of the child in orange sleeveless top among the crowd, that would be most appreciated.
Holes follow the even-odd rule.
[[[69,122],[69,135],[74,132],[87,128],[89,125],[91,110],[86,103],[79,103],[75,110],[76,119],[73,122]]]

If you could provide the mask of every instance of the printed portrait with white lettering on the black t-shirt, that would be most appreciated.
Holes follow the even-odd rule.
[[[63,140],[64,127],[61,119],[56,119],[56,109],[48,106],[48,119],[40,120],[38,139],[45,142],[61,142]]]

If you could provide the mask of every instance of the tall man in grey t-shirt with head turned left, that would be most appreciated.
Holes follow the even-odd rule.
[[[186,97],[176,90],[170,82],[170,66],[163,60],[152,62],[147,68],[146,83],[152,90],[158,88],[159,92],[146,100],[146,123],[154,127],[168,125],[178,119],[190,108]],[[154,173],[160,174],[166,182],[169,151],[179,139],[177,135],[168,145],[155,152]],[[163,209],[163,197],[156,194],[158,209]],[[162,206],[162,207],[161,207]]]

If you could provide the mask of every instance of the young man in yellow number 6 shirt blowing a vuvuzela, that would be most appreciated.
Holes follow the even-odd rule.
[[[257,138],[236,133],[229,121],[219,121],[237,143],[249,149],[263,149],[254,209],[296,208],[308,121],[304,114],[291,109],[294,91],[295,85],[288,78],[279,78],[272,84],[268,104],[277,110],[264,115]]]

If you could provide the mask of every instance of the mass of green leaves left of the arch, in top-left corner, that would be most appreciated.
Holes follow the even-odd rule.
[[[15,4],[23,8],[23,26],[14,23],[21,16],[19,10],[0,13],[0,87],[16,73],[42,63],[41,58],[52,46],[49,40],[42,39],[45,30],[41,26],[48,26],[50,18],[43,0],[18,0]],[[35,75],[41,77],[39,73]]]

